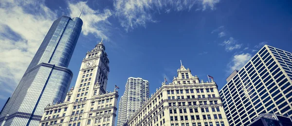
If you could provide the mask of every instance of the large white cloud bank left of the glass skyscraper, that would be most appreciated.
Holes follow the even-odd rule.
[[[2,0],[0,14],[0,92],[2,96],[8,96],[23,76],[56,15],[39,0]]]

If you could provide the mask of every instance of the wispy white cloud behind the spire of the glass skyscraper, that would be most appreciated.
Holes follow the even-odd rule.
[[[109,39],[111,23],[108,21],[109,17],[112,16],[112,12],[109,9],[104,9],[103,12],[93,10],[87,4],[87,2],[68,3],[70,16],[75,17],[80,13],[80,8],[84,8],[81,19],[83,21],[82,33],[88,35],[89,33],[94,34],[96,37]]]

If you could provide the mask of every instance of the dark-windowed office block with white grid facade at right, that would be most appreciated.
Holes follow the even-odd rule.
[[[231,126],[262,113],[292,116],[292,54],[265,45],[219,91]]]

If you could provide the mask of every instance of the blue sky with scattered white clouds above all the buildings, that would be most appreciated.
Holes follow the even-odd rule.
[[[83,28],[69,68],[71,87],[86,52],[104,37],[108,90],[128,77],[171,81],[180,60],[219,89],[264,44],[292,52],[290,0],[29,0],[0,2],[0,108],[13,93],[53,21],[78,16]]]

